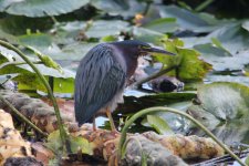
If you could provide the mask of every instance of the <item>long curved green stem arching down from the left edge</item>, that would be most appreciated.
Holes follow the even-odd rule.
[[[69,139],[69,136],[68,136],[65,129],[63,128],[63,124],[62,124],[62,118],[61,118],[61,114],[60,114],[60,111],[59,111],[59,106],[58,106],[56,100],[55,100],[55,97],[53,95],[53,92],[52,92],[48,81],[41,74],[41,72],[37,69],[37,66],[19,49],[17,49],[15,46],[13,46],[10,43],[4,42],[2,40],[0,40],[0,44],[6,46],[9,50],[12,50],[12,51],[17,52],[33,69],[33,71],[37,73],[37,75],[40,77],[40,80],[44,84],[44,86],[45,86],[45,89],[48,91],[48,94],[49,94],[49,96],[50,96],[50,98],[51,98],[51,101],[53,103],[53,107],[54,107],[54,112],[55,112],[56,120],[58,120],[58,126],[59,126],[59,131],[60,131],[62,145],[65,145],[66,152],[71,153],[70,139]],[[62,148],[64,148],[64,147],[62,147]]]

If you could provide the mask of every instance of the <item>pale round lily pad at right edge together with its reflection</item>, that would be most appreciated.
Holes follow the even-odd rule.
[[[248,144],[249,86],[230,82],[203,85],[188,113],[226,144]],[[193,134],[205,133],[195,129]]]

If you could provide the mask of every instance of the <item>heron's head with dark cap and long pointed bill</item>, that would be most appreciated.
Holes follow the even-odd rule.
[[[121,42],[113,42],[113,44],[118,50],[121,50],[125,55],[132,56],[134,59],[137,59],[141,55],[147,55],[153,53],[175,55],[172,52],[153,48],[148,43],[145,43],[138,40],[125,40]]]

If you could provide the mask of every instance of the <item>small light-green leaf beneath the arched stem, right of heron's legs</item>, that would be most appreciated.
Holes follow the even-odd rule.
[[[159,134],[174,134],[167,122],[157,115],[147,115],[147,122]]]

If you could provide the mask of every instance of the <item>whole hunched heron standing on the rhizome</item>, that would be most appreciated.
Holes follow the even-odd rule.
[[[123,92],[137,68],[137,59],[148,53],[170,52],[152,48],[136,40],[101,43],[81,60],[75,77],[75,118],[79,125],[93,120],[95,114],[106,113],[112,131],[115,131],[111,113],[123,103]]]

